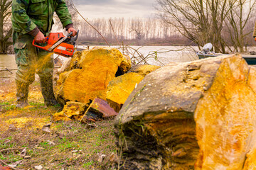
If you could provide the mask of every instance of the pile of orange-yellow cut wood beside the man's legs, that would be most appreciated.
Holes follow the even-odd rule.
[[[64,109],[53,115],[55,121],[81,120],[91,101],[97,100],[85,118],[91,120],[116,115],[129,94],[144,79],[146,74],[158,66],[141,65],[131,68],[129,57],[124,57],[117,49],[95,47],[92,50],[76,52],[58,69],[55,95]],[[100,100],[100,101],[99,101]],[[107,102],[114,110],[107,107]],[[91,108],[91,109],[92,109]],[[103,110],[102,110],[103,108]],[[107,111],[104,109],[107,108]],[[91,110],[90,109],[90,110]]]

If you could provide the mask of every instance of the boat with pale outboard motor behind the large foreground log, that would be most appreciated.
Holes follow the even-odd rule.
[[[203,46],[203,50],[200,52],[196,52],[196,55],[198,55],[199,59],[205,59],[208,57],[218,57],[221,55],[228,55],[228,54],[222,54],[222,53],[215,53],[210,51],[213,48],[213,45],[211,43],[207,43],[206,45]],[[256,55],[244,55],[240,54],[242,58],[245,59],[247,64],[249,65],[255,65],[256,64]]]

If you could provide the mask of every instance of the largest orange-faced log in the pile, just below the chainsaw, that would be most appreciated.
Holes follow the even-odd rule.
[[[107,85],[118,74],[124,74],[131,63],[117,49],[95,47],[76,52],[70,65],[60,74],[55,86],[57,100],[88,103],[94,98],[106,99]]]

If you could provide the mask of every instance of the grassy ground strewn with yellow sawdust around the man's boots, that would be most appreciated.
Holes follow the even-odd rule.
[[[0,79],[0,165],[12,164],[14,169],[114,169],[113,120],[54,123],[51,116],[61,107],[44,106],[38,81],[30,86],[28,108],[15,107],[15,92],[14,79]],[[52,123],[50,131],[43,128],[48,123]]]

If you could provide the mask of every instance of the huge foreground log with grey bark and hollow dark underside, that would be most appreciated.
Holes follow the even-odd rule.
[[[240,55],[148,74],[114,122],[121,169],[242,170],[255,149],[255,82]]]

